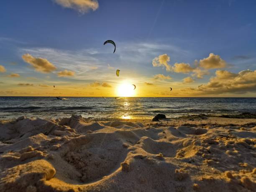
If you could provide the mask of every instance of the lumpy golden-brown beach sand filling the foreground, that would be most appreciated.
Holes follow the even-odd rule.
[[[256,119],[0,123],[0,191],[256,191]]]

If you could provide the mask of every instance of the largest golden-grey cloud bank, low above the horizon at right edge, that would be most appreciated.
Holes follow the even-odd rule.
[[[207,84],[202,84],[196,88],[184,88],[181,91],[192,95],[256,92],[256,70],[247,69],[238,74],[217,70],[215,77],[210,78]]]

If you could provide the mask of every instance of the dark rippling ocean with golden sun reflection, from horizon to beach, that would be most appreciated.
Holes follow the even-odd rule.
[[[167,118],[186,115],[256,113],[256,98],[209,97],[0,97],[0,119],[33,118]]]

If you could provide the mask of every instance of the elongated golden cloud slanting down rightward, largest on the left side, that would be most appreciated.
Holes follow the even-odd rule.
[[[22,59],[28,64],[31,64],[36,69],[36,71],[41,73],[50,73],[56,70],[54,64],[41,57],[33,57],[31,54],[24,54]]]

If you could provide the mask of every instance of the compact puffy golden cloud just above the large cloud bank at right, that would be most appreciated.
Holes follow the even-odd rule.
[[[205,69],[220,69],[226,67],[227,63],[219,55],[210,53],[207,58],[199,61],[199,66]]]

